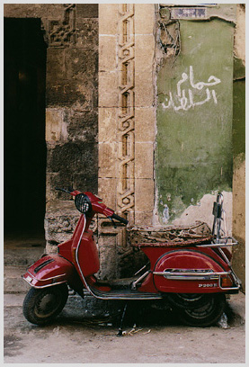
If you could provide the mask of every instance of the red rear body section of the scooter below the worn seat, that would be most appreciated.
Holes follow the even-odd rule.
[[[229,266],[211,248],[160,246],[152,249],[145,246],[141,249],[151,260],[153,267],[151,282],[156,291],[165,293],[213,293],[227,291],[226,288],[220,288],[218,275],[212,276],[212,273],[229,272]],[[190,279],[185,278],[187,276],[185,275],[186,273],[189,273],[188,278]],[[207,279],[205,279],[205,276]],[[233,281],[231,280],[227,284],[231,286]],[[152,290],[151,284],[142,284],[141,289],[143,291],[146,291],[146,289]]]

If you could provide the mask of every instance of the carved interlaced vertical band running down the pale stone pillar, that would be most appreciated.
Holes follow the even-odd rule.
[[[134,220],[134,4],[119,4],[119,183],[118,210]]]

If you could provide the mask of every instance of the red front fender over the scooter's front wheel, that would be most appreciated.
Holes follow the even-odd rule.
[[[32,264],[22,279],[31,287],[45,288],[63,282],[76,282],[77,273],[74,264],[60,255],[45,255]]]

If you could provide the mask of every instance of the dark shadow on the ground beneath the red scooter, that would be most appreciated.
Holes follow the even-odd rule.
[[[182,326],[177,317],[177,312],[164,306],[160,301],[131,300],[127,303],[126,301],[120,300],[95,300],[95,310],[92,309],[92,311],[81,307],[83,302],[84,300],[81,300],[77,296],[69,297],[67,306],[63,309],[58,318],[45,327],[78,325],[91,327],[92,329],[108,329],[110,327],[119,329],[121,318],[123,317],[123,310],[126,305],[127,309],[122,322],[123,328],[134,326],[143,328]],[[217,327],[234,327],[235,325],[242,325],[243,323],[243,320],[234,313],[233,309],[231,309],[230,305],[227,303],[223,320],[218,322]],[[30,326],[34,328],[37,327],[31,324]]]

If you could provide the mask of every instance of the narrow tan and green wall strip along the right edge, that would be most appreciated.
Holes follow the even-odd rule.
[[[245,4],[236,8],[233,115],[233,267],[245,291]]]

